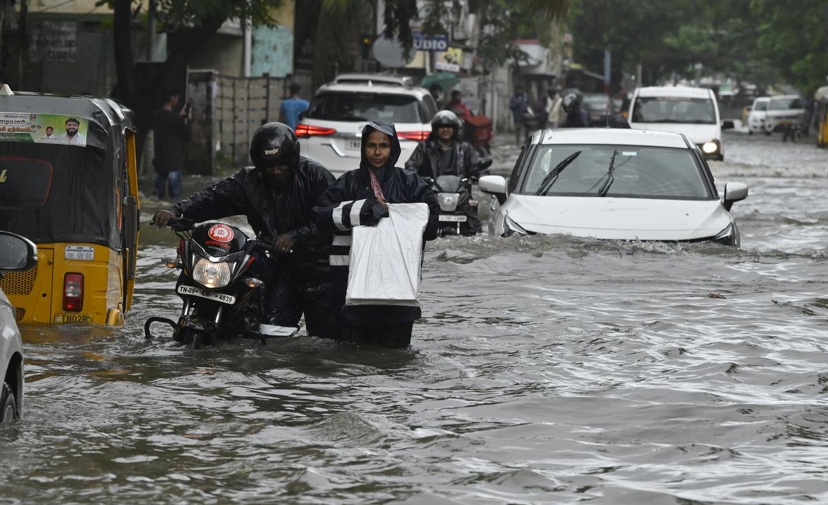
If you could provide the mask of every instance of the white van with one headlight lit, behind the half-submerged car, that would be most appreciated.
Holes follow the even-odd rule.
[[[705,158],[724,160],[719,104],[708,88],[638,88],[629,103],[628,121],[638,130],[683,133],[699,146]],[[733,121],[725,121],[724,128],[733,128]]]

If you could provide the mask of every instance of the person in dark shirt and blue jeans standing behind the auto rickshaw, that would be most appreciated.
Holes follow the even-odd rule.
[[[170,198],[181,198],[181,173],[184,170],[184,145],[192,140],[193,111],[190,104],[176,112],[181,93],[168,89],[162,97],[161,108],[152,113],[155,145],[155,195],[159,199],[169,188]]]

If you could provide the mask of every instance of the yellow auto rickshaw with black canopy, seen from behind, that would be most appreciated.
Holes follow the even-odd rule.
[[[0,88],[0,230],[37,244],[35,269],[0,280],[17,322],[123,324],[140,205],[133,116],[107,98]]]

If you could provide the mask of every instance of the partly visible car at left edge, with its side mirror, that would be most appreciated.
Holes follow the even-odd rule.
[[[0,423],[19,418],[23,407],[23,343],[17,328],[17,310],[3,292],[2,274],[32,269],[37,246],[28,239],[0,231]]]

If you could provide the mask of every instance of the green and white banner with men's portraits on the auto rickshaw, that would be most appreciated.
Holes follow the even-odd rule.
[[[0,142],[86,145],[89,119],[58,114],[0,112]]]

